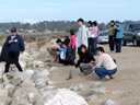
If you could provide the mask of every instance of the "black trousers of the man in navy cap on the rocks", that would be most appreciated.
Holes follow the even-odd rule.
[[[23,71],[20,63],[19,63],[19,56],[20,56],[20,51],[10,51],[9,52],[8,60],[5,63],[4,73],[9,72],[9,67],[11,63],[14,63],[16,66],[16,68],[19,69],[19,71]]]

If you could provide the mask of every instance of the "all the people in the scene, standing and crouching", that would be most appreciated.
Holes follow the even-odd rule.
[[[103,47],[97,47],[97,36],[98,28],[97,22],[89,21],[88,27],[84,25],[82,19],[78,20],[79,31],[75,33],[70,30],[71,38],[66,36],[62,42],[60,38],[56,40],[59,45],[57,49],[59,51],[59,63],[65,66],[71,65],[79,68],[80,71],[85,74],[92,74],[93,71],[103,80],[114,79],[114,74],[117,72],[117,66],[115,60],[105,54]],[[110,27],[108,30],[109,35],[109,47],[110,51],[114,51],[114,42],[116,43],[116,51],[121,51],[121,38],[122,28],[119,21],[116,23],[110,22]],[[16,33],[16,28],[11,28],[11,35],[8,36],[2,52],[0,56],[0,61],[5,61],[4,73],[9,72],[9,67],[14,63],[19,71],[23,71],[19,63],[19,56],[25,50],[24,42],[21,35]],[[75,61],[75,54],[78,50],[79,59]],[[95,60],[94,56],[98,55],[98,59]]]

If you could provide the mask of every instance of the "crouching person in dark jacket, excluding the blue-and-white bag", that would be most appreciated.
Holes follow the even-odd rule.
[[[73,66],[74,65],[74,56],[72,54],[71,48],[67,45],[66,42],[62,43],[62,48],[66,48],[67,49],[66,57],[63,59],[61,59],[62,60],[62,63],[65,66],[68,66],[68,65]]]

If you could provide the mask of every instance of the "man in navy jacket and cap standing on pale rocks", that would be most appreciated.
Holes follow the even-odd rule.
[[[5,71],[4,73],[9,72],[9,67],[11,63],[14,63],[19,71],[23,71],[20,63],[19,63],[19,56],[20,52],[22,54],[25,50],[24,42],[23,38],[16,34],[16,28],[12,27],[11,28],[11,35],[8,36],[5,40],[5,46],[9,47],[9,54],[8,54],[8,59],[5,63]]]

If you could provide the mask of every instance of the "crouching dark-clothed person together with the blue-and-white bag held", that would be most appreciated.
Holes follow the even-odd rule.
[[[60,49],[60,59],[65,66],[74,65],[74,56],[66,42],[62,43],[62,48]]]

